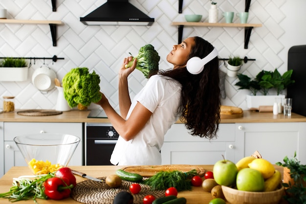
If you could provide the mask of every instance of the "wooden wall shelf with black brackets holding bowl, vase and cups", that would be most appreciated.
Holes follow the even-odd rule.
[[[244,27],[244,49],[247,49],[251,32],[254,27],[262,27],[262,24],[255,23],[205,23],[205,22],[173,22],[178,26],[178,44],[182,42],[184,26],[202,27]]]

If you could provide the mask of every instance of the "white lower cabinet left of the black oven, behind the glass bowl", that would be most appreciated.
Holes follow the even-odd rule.
[[[0,123],[1,124],[1,123]],[[0,125],[1,127],[1,125]],[[15,136],[37,133],[64,133],[80,137],[81,141],[75,150],[69,165],[84,165],[83,141],[84,123],[53,123],[53,122],[4,122],[2,123],[4,141],[1,148],[4,150],[4,166],[1,169],[3,175],[12,166],[27,166],[21,152],[15,144]],[[1,149],[0,149],[1,150]]]

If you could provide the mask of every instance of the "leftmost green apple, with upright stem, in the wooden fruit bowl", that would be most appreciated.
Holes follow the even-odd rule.
[[[214,179],[219,185],[230,186],[236,181],[238,169],[234,162],[222,159],[215,163],[213,173]]]

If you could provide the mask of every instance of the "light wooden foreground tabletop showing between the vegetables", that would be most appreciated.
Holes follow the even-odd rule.
[[[212,171],[213,165],[198,165],[205,169],[205,171]],[[276,169],[283,173],[283,167],[274,165]],[[71,169],[86,173],[92,177],[106,177],[110,174],[115,174],[117,169],[123,168],[124,166],[69,166]],[[1,179],[0,179],[0,193],[9,191],[12,186],[12,179],[18,178],[22,175],[32,175],[28,167],[12,167]],[[84,181],[86,179],[76,176],[77,182]],[[177,197],[185,197],[187,204],[208,204],[212,200],[211,193],[204,192],[202,187],[193,187],[192,191],[181,191]],[[37,199],[39,204],[80,204],[72,198],[67,198],[61,201],[54,200],[42,200]],[[1,204],[11,204],[8,199],[0,198]],[[20,201],[22,204],[34,204],[33,200]],[[283,204],[283,203],[282,203]]]

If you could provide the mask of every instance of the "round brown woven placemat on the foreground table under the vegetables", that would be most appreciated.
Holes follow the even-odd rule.
[[[98,178],[105,181],[106,177]],[[118,188],[109,187],[105,182],[97,182],[85,180],[77,183],[72,189],[71,197],[83,204],[112,204],[115,196],[120,191],[130,192],[130,185],[133,182],[122,180],[122,184]],[[155,198],[165,196],[164,190],[150,190],[149,185],[141,184],[141,191],[138,194],[132,194],[134,198],[133,204],[143,204],[143,198],[146,195],[153,195]],[[130,192],[131,193],[131,192]]]

